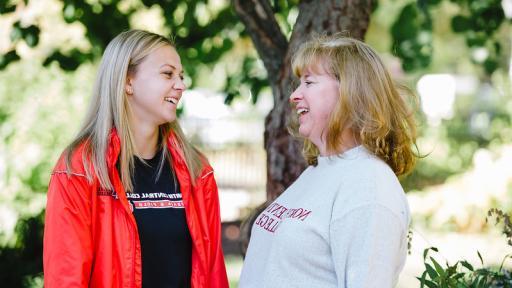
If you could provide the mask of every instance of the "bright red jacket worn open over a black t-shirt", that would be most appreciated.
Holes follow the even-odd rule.
[[[221,246],[217,185],[205,165],[192,186],[176,138],[168,139],[187,224],[192,237],[192,287],[229,287]],[[85,176],[83,145],[72,155],[72,174],[64,157],[52,173],[44,229],[44,284],[53,287],[140,288],[141,248],[137,224],[129,208],[116,161],[120,140],[112,132],[107,152],[114,191],[100,188]]]

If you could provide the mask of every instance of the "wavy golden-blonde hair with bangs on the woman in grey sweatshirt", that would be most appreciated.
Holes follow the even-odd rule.
[[[340,83],[339,101],[327,125],[327,150],[339,153],[342,133],[351,129],[355,138],[396,175],[410,172],[418,156],[413,151],[414,111],[407,98],[416,97],[393,83],[377,53],[367,44],[339,34],[315,36],[294,54],[292,69],[300,78],[306,69],[315,68],[324,69]],[[296,131],[296,125],[292,126]],[[316,165],[319,151],[305,139],[303,155],[310,165]]]

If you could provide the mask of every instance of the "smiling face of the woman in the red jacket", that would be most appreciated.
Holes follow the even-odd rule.
[[[133,123],[156,128],[176,120],[176,107],[185,88],[176,50],[165,45],[151,52],[126,81]]]

